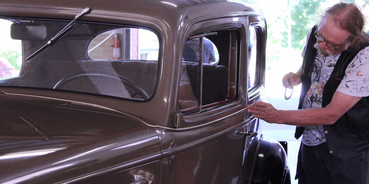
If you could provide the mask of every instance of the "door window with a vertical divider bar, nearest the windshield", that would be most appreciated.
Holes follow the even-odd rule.
[[[208,62],[207,47],[204,46],[207,42],[205,37],[192,39],[184,44],[179,88],[182,112],[201,110],[235,98],[235,75],[233,74],[235,74],[237,59],[230,58],[230,54],[237,52],[237,31],[221,30],[214,33],[216,35],[207,36],[206,39],[217,48],[219,59],[216,64]],[[192,50],[204,53],[194,59],[197,63],[188,62],[185,59],[189,52],[186,45],[189,43],[193,45]],[[200,59],[203,60],[202,64]]]

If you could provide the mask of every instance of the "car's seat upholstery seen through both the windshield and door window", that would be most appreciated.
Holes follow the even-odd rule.
[[[198,64],[186,63],[187,72],[193,92],[199,99]],[[61,79],[81,72],[103,72],[125,77],[152,96],[155,89],[157,63],[155,61],[137,60],[77,60],[50,61],[45,64],[46,88],[52,88]],[[121,96],[124,86],[114,79],[99,77],[83,77],[70,81],[62,89]],[[228,67],[203,64],[203,105],[219,102],[227,98]]]

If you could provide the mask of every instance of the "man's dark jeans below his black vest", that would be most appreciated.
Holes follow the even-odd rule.
[[[348,160],[331,155],[327,143],[301,146],[303,172],[299,184],[368,184],[369,151]],[[303,177],[304,175],[304,177]]]

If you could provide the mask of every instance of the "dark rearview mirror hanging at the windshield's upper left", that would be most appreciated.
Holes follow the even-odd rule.
[[[10,37],[13,40],[44,40],[46,38],[46,26],[13,23],[10,26]]]

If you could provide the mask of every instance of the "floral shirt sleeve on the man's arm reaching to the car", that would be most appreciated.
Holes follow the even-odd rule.
[[[369,47],[354,57],[345,72],[337,91],[350,96],[369,96]]]

